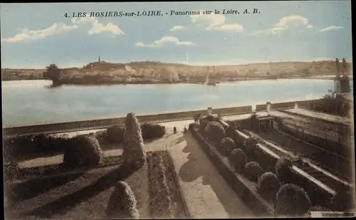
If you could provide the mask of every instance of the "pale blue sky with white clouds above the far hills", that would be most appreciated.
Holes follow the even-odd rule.
[[[240,14],[166,15],[214,9]],[[245,9],[261,14],[242,14]],[[145,10],[164,16],[64,17]],[[2,68],[83,66],[98,56],[197,65],[310,61],[352,58],[351,44],[350,1],[1,4]]]

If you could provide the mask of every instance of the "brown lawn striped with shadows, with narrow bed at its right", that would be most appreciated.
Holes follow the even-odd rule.
[[[6,191],[12,194],[9,196],[11,202],[5,210],[6,219],[23,219],[25,216],[45,219],[108,219],[105,211],[118,181],[126,182],[134,192],[140,219],[151,219],[151,214],[155,213],[152,209],[162,209],[157,205],[150,205],[152,192],[159,192],[159,189],[153,187],[152,177],[156,174],[149,169],[150,164],[157,163],[157,155],[162,157],[164,179],[167,180],[169,198],[174,204],[172,217],[187,218],[179,184],[174,178],[172,159],[166,151],[159,151],[147,152],[147,163],[134,172],[130,172],[122,164],[120,157],[114,157],[115,159],[106,159],[105,164],[94,169],[75,172],[61,170],[61,174],[55,175],[52,170],[48,171],[51,175],[47,177],[8,183],[11,187],[6,187]],[[164,206],[163,202],[160,204]]]

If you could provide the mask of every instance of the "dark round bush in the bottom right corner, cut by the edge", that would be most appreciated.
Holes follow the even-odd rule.
[[[351,211],[351,209],[355,208],[354,196],[350,189],[339,192],[331,198],[330,208],[333,209],[333,211]]]

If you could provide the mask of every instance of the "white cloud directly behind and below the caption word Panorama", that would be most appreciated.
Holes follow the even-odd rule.
[[[221,14],[202,14],[190,16],[192,23],[206,26],[206,31],[244,31],[244,26],[239,23],[225,23],[225,16]]]

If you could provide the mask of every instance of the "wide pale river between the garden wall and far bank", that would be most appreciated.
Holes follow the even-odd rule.
[[[2,81],[3,126],[310,100],[333,89],[333,80],[250,80],[216,86],[49,85],[48,80]]]

